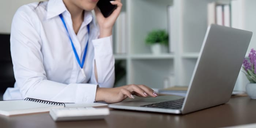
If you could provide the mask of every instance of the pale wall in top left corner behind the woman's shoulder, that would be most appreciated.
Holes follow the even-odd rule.
[[[40,0],[0,0],[0,33],[10,33],[12,17],[23,4]]]

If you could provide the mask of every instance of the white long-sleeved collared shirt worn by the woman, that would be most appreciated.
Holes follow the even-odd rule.
[[[112,36],[98,38],[99,29],[91,12],[76,35],[71,15],[62,0],[23,5],[16,11],[11,27],[11,56],[16,82],[8,88],[4,100],[38,98],[57,102],[94,102],[97,84],[113,87],[114,57]],[[67,31],[82,60],[88,39],[83,77]],[[98,82],[94,74],[96,63]]]

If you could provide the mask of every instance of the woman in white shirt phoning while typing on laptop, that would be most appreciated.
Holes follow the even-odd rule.
[[[156,97],[144,85],[116,88],[112,28],[116,10],[105,18],[98,0],[48,0],[23,5],[11,27],[15,85],[4,100],[38,98],[57,102],[120,102],[125,98]],[[98,26],[91,11],[95,11]]]

